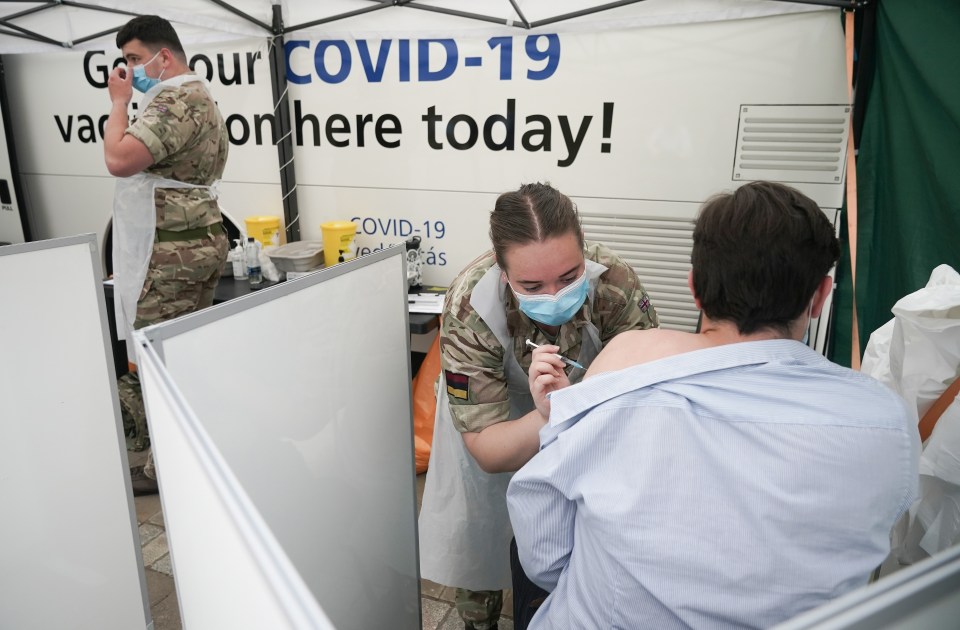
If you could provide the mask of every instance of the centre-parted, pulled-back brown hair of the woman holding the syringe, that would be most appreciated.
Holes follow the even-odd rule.
[[[583,249],[577,207],[550,184],[524,184],[516,192],[503,193],[490,213],[490,242],[497,264],[504,270],[503,255],[509,247],[564,234],[575,234]]]

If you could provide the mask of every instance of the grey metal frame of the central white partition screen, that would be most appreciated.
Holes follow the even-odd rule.
[[[167,356],[169,354],[170,348],[165,347],[165,342],[167,346],[170,345],[170,342],[173,341],[176,337],[181,335],[192,333],[201,329],[205,326],[215,324],[223,319],[243,313],[245,311],[255,309],[258,306],[267,305],[274,300],[282,299],[287,296],[291,296],[294,293],[309,289],[318,284],[329,282],[342,276],[359,271],[364,267],[375,265],[377,263],[386,261],[390,258],[396,257],[398,265],[398,273],[396,279],[396,305],[397,312],[393,313],[391,307],[391,314],[396,315],[397,320],[399,319],[400,313],[402,313],[402,322],[395,321],[396,328],[403,331],[404,339],[404,353],[405,353],[405,373],[403,376],[404,382],[407,384],[407,389],[409,390],[409,383],[411,382],[412,374],[410,367],[410,335],[409,335],[409,312],[408,312],[408,284],[406,281],[406,266],[405,266],[405,246],[403,244],[398,244],[389,248],[386,248],[379,252],[374,252],[357,259],[347,261],[344,263],[339,263],[335,266],[328,267],[326,269],[314,272],[307,276],[297,278],[293,281],[288,281],[285,283],[280,283],[277,285],[270,286],[265,289],[251,292],[247,295],[244,295],[235,300],[224,302],[222,304],[216,305],[211,308],[186,315],[184,317],[172,320],[169,322],[164,322],[155,326],[151,326],[142,330],[143,336],[149,341],[151,347],[156,352],[158,357],[163,361],[163,363],[169,368],[169,363],[171,357]],[[392,297],[386,298],[392,300]],[[392,303],[391,303],[392,304]],[[264,369],[267,369],[267,366],[263,366]],[[176,382],[176,374],[173,374],[174,382]],[[238,395],[243,395],[243,392],[238,391]],[[281,394],[282,395],[282,394]],[[190,401],[189,396],[186,397],[186,402],[188,404],[193,404]],[[412,392],[409,392],[407,395],[407,409],[405,412],[406,418],[412,421],[413,410],[412,410]],[[194,407],[194,411],[197,413],[200,421],[203,421],[201,417],[201,411]],[[398,414],[399,415],[399,414]],[[416,578],[416,607],[418,613],[417,628],[422,624],[422,610],[420,609],[420,567],[419,567],[419,536],[417,533],[417,522],[416,522],[416,467],[414,461],[414,438],[413,438],[413,429],[412,422],[408,423],[409,430],[406,432],[407,435],[407,444],[406,452],[409,453],[409,466],[410,466],[410,496],[409,502],[413,506],[413,517],[410,526],[412,527],[412,538],[411,538],[411,548],[413,553],[413,559],[415,564],[415,578]],[[214,444],[217,440],[214,438]],[[396,444],[397,447],[400,447],[400,444]],[[158,471],[160,477],[160,487],[161,492],[163,490],[163,452],[162,448],[156,452],[157,462],[158,462]],[[246,490],[246,489],[245,489]],[[254,501],[256,504],[256,501]],[[168,539],[170,540],[171,546],[171,556],[174,561],[174,566],[176,567],[176,537],[175,532],[168,531]],[[282,545],[282,541],[281,541]],[[318,600],[319,601],[319,600]],[[326,610],[327,606],[323,601],[319,601],[320,605]],[[331,616],[331,619],[336,623],[337,619],[334,616]]]

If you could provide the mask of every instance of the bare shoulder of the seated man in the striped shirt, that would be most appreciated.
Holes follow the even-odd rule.
[[[703,339],[694,333],[662,328],[629,330],[620,333],[604,346],[590,365],[585,378],[699,350],[703,345]]]

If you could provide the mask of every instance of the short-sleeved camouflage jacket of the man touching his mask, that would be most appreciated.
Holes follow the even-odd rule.
[[[200,81],[168,87],[140,112],[127,133],[150,151],[147,173],[209,186],[227,163],[227,127]],[[157,228],[190,230],[220,222],[220,208],[205,189],[157,188]]]

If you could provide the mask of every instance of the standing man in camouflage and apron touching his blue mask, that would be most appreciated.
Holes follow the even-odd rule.
[[[110,73],[104,129],[107,169],[117,180],[113,207],[117,333],[136,354],[131,330],[210,306],[228,241],[215,185],[227,162],[227,128],[170,23],[130,20],[117,33],[127,62]],[[138,118],[127,108],[143,92]],[[134,367],[134,366],[132,366]],[[136,372],[121,377],[121,408],[130,446],[149,444]],[[152,457],[131,471],[134,493],[156,492]]]

